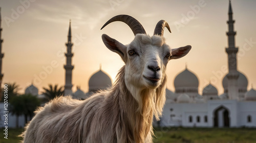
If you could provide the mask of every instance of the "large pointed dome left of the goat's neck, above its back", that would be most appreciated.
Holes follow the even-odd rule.
[[[110,77],[100,69],[98,72],[94,73],[89,80],[89,92],[105,90],[111,87],[111,85]]]

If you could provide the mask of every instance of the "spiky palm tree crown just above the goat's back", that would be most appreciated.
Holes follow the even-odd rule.
[[[48,100],[52,100],[55,97],[63,96],[64,95],[64,90],[62,89],[63,87],[58,88],[58,85],[55,84],[54,87],[49,84],[49,88],[43,88],[45,91],[42,93],[44,94]]]

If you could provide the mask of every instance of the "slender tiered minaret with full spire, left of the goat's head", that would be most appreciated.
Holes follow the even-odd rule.
[[[67,46],[67,53],[65,53],[67,57],[67,64],[64,65],[64,68],[66,70],[65,75],[65,91],[64,95],[72,95],[72,70],[74,69],[74,66],[71,65],[71,60],[73,53],[71,52],[73,43],[71,43],[71,20],[69,21],[69,35],[68,35],[68,43],[66,43]]]

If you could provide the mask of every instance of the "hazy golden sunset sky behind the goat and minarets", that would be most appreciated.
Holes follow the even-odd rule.
[[[248,90],[256,87],[256,1],[232,1],[236,46],[239,47],[238,70],[248,79]],[[199,79],[199,93],[209,84],[223,93],[222,79],[228,73],[227,0],[110,0],[110,1],[0,1],[2,15],[3,83],[16,82],[23,94],[32,82],[39,94],[48,84],[65,85],[69,20],[71,19],[72,52],[74,53],[73,92],[80,86],[88,92],[90,77],[99,70],[115,80],[124,65],[118,54],[105,47],[102,34],[129,44],[134,35],[125,23],[114,22],[100,30],[113,16],[127,14],[136,18],[148,35],[156,23],[165,20],[164,37],[172,48],[191,45],[190,52],[167,65],[167,88],[175,91],[174,79],[185,69]]]

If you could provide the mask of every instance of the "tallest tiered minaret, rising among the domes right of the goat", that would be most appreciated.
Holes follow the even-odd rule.
[[[233,12],[231,7],[231,1],[229,0],[229,8],[228,8],[228,32],[226,33],[228,36],[228,48],[226,48],[226,52],[228,54],[228,97],[229,99],[238,99],[238,77],[239,72],[237,71],[237,52],[238,47],[235,45],[234,36],[237,34],[234,32],[234,20],[233,20]]]

